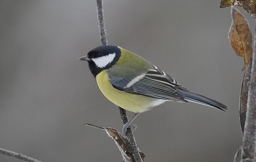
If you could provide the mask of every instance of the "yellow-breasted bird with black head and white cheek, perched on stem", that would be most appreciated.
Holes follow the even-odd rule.
[[[224,112],[227,110],[224,104],[189,91],[146,59],[122,47],[99,46],[78,59],[88,62],[100,91],[109,101],[135,113],[124,124],[123,135],[128,127],[135,131],[137,126],[131,122],[141,112],[166,101],[194,102]]]

